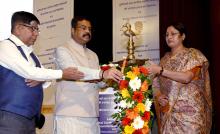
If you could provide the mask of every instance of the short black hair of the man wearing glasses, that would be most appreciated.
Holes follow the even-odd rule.
[[[31,21],[36,21],[38,24],[40,24],[38,18],[32,13],[25,11],[15,12],[11,17],[11,32],[14,30],[16,23],[20,22],[30,24]]]

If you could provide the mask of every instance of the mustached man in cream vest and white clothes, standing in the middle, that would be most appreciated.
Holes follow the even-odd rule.
[[[83,66],[99,69],[99,60],[86,47],[91,40],[91,22],[83,17],[71,21],[72,39],[56,50],[60,69]],[[99,134],[99,85],[87,81],[60,81],[56,92],[55,134]]]

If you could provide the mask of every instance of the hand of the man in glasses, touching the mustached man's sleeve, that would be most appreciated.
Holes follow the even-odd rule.
[[[63,79],[66,80],[80,80],[84,77],[84,74],[80,71],[78,71],[75,67],[68,67],[66,69],[63,69]]]

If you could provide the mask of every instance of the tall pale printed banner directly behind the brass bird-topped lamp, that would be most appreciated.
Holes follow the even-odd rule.
[[[127,56],[130,24],[136,59],[159,62],[159,0],[113,0],[113,60]]]

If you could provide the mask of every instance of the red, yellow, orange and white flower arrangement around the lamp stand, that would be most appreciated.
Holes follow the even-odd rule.
[[[103,70],[118,65],[104,65]],[[124,78],[119,83],[108,81],[115,89],[116,113],[112,115],[114,124],[121,134],[148,134],[152,126],[153,112],[151,105],[152,79],[146,67],[122,65]]]

